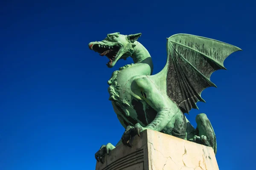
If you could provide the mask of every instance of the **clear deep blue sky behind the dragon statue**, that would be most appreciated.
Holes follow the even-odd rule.
[[[36,3],[35,3],[36,2]],[[112,69],[88,48],[106,34],[142,33],[154,74],[166,37],[195,34],[236,45],[227,71],[211,80],[188,119],[206,113],[217,135],[220,170],[255,167],[255,0],[17,1],[0,3],[0,170],[91,170],[102,144],[123,127],[108,101]]]

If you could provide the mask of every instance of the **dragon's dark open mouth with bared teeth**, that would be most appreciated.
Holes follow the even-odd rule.
[[[108,45],[93,45],[93,51],[99,53],[101,56],[107,56],[109,62],[106,65],[111,65],[112,62],[116,59],[116,54],[118,53],[120,47],[118,45],[108,46]]]

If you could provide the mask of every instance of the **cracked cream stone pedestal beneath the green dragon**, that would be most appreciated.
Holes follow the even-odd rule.
[[[219,170],[211,147],[153,130],[120,144],[97,162],[96,170]]]

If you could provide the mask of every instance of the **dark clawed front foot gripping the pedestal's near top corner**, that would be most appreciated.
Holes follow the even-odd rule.
[[[128,147],[131,147],[131,144],[129,143],[131,137],[133,136],[140,136],[140,132],[145,130],[145,127],[142,127],[139,123],[133,126],[127,126],[125,129],[124,134],[122,135],[122,143]]]

